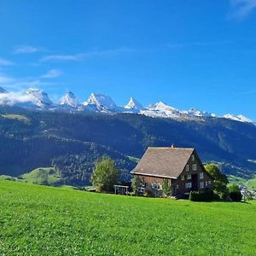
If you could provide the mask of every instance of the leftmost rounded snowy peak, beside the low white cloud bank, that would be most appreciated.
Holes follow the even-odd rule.
[[[38,108],[50,108],[53,106],[53,102],[50,101],[49,96],[43,90],[30,88],[26,90],[27,103],[31,103]]]

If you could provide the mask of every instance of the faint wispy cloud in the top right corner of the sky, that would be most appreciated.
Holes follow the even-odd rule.
[[[231,15],[236,18],[243,18],[256,9],[256,0],[230,0]]]

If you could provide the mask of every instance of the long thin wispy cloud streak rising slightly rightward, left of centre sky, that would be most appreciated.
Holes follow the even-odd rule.
[[[131,52],[133,49],[122,47],[118,49],[105,49],[105,50],[94,50],[86,53],[80,53],[75,55],[45,55],[41,58],[41,62],[49,61],[83,61],[86,58],[95,56],[113,56],[119,55],[125,52]]]

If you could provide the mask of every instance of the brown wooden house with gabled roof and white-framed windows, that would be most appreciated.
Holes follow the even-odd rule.
[[[139,192],[162,196],[162,183],[167,179],[171,195],[183,198],[190,190],[212,189],[212,177],[201,163],[195,148],[148,148],[131,171],[141,180]]]

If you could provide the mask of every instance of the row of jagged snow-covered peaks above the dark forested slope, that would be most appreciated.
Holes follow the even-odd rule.
[[[96,113],[137,113],[153,118],[166,119],[202,119],[207,117],[232,119],[239,122],[253,123],[242,114],[236,116],[230,113],[224,116],[217,116],[214,113],[203,112],[196,108],[189,110],[179,110],[169,106],[165,102],[150,104],[144,108],[135,98],[131,97],[125,107],[117,106],[110,96],[91,93],[89,98],[79,103],[79,99],[69,91],[61,97],[58,103],[49,99],[46,92],[38,89],[28,89],[25,92],[8,92],[0,87],[0,106],[18,106],[22,108],[32,108],[49,111],[90,111]],[[253,123],[254,124],[254,123]]]

